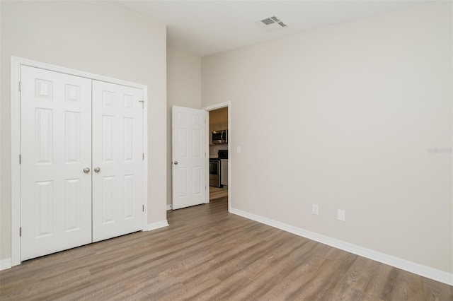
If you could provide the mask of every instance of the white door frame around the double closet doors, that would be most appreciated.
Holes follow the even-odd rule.
[[[105,81],[126,85],[132,88],[143,90],[143,153],[148,153],[148,86],[130,81],[122,81],[117,78],[109,78],[98,74],[55,66],[52,64],[23,59],[21,57],[11,57],[11,266],[21,264],[21,165],[19,155],[21,153],[21,93],[19,83],[21,81],[21,66],[30,66],[48,71],[66,73],[72,76],[90,78],[96,81]],[[143,227],[148,225],[148,156],[143,160]]]

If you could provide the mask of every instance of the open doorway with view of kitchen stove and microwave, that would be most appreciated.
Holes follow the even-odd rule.
[[[231,187],[231,118],[229,102],[203,108],[207,111],[209,201],[229,201]],[[230,207],[230,204],[228,204]]]

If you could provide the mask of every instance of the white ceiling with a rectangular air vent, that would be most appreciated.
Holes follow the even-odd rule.
[[[407,8],[425,1],[117,1],[167,25],[167,39],[205,56],[314,28]],[[256,20],[277,16],[288,26],[267,31]]]

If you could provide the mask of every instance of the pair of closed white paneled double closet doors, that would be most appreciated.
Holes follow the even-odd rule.
[[[142,90],[21,66],[21,260],[142,230]]]

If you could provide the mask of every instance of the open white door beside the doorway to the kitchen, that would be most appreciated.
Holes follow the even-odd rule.
[[[172,107],[173,209],[205,203],[206,112]]]

